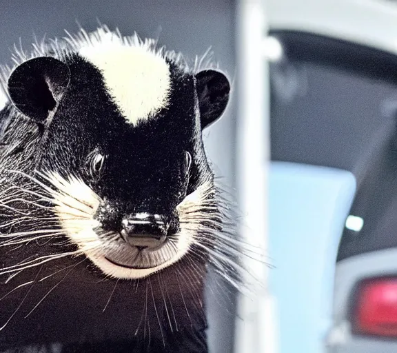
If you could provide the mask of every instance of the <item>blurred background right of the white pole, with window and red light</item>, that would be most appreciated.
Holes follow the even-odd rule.
[[[396,6],[265,1],[278,352],[397,351]]]

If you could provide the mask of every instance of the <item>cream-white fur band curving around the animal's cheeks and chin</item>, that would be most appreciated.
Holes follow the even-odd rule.
[[[85,256],[96,265],[103,274],[119,279],[139,279],[150,276],[155,272],[163,270],[179,261],[190,249],[196,235],[195,227],[199,225],[189,222],[192,210],[195,210],[207,198],[210,184],[201,185],[176,208],[181,225],[181,231],[176,234],[174,242],[176,252],[165,258],[159,249],[154,258],[163,256],[164,262],[152,268],[126,268],[116,265],[107,259],[107,246],[93,230],[99,225],[93,219],[101,199],[81,179],[69,177],[63,179],[59,174],[50,173],[46,177],[57,190],[51,190],[54,199],[54,212],[57,214],[60,223],[68,239],[79,247]],[[207,185],[208,184],[208,185]],[[113,234],[114,236],[114,234]],[[111,240],[110,240],[111,241]],[[158,262],[157,262],[158,263]],[[137,264],[139,265],[139,264]]]

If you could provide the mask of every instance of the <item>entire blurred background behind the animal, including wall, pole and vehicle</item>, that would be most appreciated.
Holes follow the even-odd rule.
[[[2,0],[0,62],[98,20],[232,80],[205,146],[272,268],[208,291],[210,352],[397,352],[397,2]]]

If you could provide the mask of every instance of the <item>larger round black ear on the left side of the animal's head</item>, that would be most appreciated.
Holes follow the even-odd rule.
[[[37,57],[21,63],[10,74],[8,94],[21,113],[43,123],[57,107],[69,82],[68,65],[52,57]]]

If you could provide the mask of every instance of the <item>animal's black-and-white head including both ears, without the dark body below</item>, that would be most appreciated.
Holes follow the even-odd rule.
[[[176,263],[221,228],[201,135],[227,105],[224,74],[103,28],[41,50],[7,77],[5,134],[22,152],[4,152],[39,187],[37,219],[55,215],[79,252],[121,279]]]

